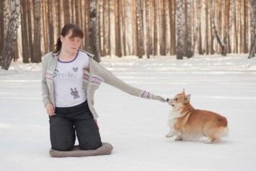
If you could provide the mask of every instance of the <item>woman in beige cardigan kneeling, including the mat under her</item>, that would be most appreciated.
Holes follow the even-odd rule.
[[[69,155],[65,152],[72,150],[71,156],[76,156],[76,137],[81,149],[80,156],[91,154],[88,152],[111,153],[110,144],[102,145],[94,109],[94,91],[102,82],[132,96],[166,101],[161,96],[124,83],[93,60],[92,54],[79,50],[83,37],[84,33],[79,27],[66,24],[58,37],[55,50],[43,57],[42,94],[50,118],[50,154],[53,157]],[[81,151],[84,153],[81,154]]]

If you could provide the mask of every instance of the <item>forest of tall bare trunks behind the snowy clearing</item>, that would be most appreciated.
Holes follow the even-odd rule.
[[[64,24],[101,57],[248,53],[255,56],[254,0],[1,0],[0,68],[40,63]]]

